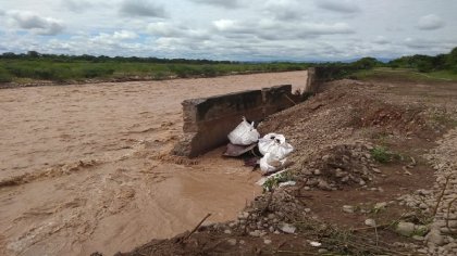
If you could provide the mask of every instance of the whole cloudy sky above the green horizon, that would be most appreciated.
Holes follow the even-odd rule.
[[[0,53],[344,61],[447,53],[456,0],[0,0]]]

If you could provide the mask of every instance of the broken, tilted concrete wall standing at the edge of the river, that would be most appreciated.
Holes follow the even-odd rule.
[[[227,135],[242,121],[259,123],[267,116],[288,108],[316,93],[314,68],[308,69],[308,81],[301,94],[292,92],[291,85],[248,90],[210,98],[185,100],[183,105],[183,138],[173,153],[196,157],[227,142]]]

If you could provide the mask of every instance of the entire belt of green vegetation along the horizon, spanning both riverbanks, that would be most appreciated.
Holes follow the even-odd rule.
[[[25,84],[36,80],[75,82],[96,80],[129,80],[215,77],[232,74],[302,71],[320,67],[320,80],[341,78],[393,79],[429,82],[457,81],[457,48],[436,56],[403,56],[388,63],[362,57],[351,63],[244,63],[209,60],[109,57],[92,55],[55,55],[29,51],[26,54],[5,52],[0,55],[0,84]]]

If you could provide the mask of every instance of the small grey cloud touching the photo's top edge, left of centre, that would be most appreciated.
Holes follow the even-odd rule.
[[[127,16],[166,17],[163,7],[148,0],[124,0],[120,12]]]

